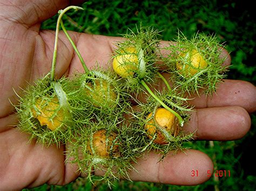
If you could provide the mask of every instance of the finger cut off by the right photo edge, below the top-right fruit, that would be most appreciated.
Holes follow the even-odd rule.
[[[196,108],[211,108],[237,105],[248,112],[256,110],[256,87],[250,82],[241,80],[224,80],[217,85],[212,96],[193,95],[189,101]]]

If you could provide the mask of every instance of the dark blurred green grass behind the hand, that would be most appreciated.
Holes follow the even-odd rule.
[[[178,29],[187,37],[194,33],[216,34],[231,52],[232,66],[228,79],[239,79],[256,84],[256,24],[251,3],[246,1],[87,1],[81,5],[85,11],[70,11],[64,17],[68,30],[119,36],[127,28],[135,31],[136,24],[153,26],[162,31],[163,40],[172,40]],[[57,16],[46,20],[42,29],[56,29]],[[186,143],[186,146],[215,158],[215,168],[230,171],[231,175],[212,178],[198,186],[172,186],[151,182],[114,182],[112,190],[255,190],[256,168],[252,152],[255,151],[256,117],[252,117],[251,131],[235,141]],[[103,182],[91,185],[77,179],[66,186],[43,185],[24,190],[107,190]]]

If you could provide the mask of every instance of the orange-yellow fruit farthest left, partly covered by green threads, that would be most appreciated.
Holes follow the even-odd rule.
[[[34,108],[31,109],[33,117],[37,118],[40,125],[46,125],[50,130],[56,130],[64,121],[64,110],[59,109],[59,100],[52,98],[50,102],[38,98]]]

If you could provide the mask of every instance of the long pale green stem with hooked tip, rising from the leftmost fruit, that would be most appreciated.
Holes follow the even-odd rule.
[[[53,49],[53,58],[52,58],[52,65],[51,65],[51,80],[54,80],[54,75],[55,75],[55,68],[56,68],[56,58],[57,58],[57,45],[58,45],[58,36],[59,36],[59,24],[62,19],[62,16],[65,14],[66,11],[70,9],[75,9],[75,10],[83,10],[83,8],[80,8],[79,6],[68,6],[64,10],[59,10],[59,17],[57,20],[57,25],[56,25],[56,33],[55,33],[55,43],[54,43],[54,49]]]

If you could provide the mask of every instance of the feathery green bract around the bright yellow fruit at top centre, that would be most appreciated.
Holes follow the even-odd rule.
[[[133,66],[127,67],[127,72],[131,72],[133,75],[124,77],[122,79],[122,85],[128,93],[138,94],[142,91],[143,87],[140,84],[140,80],[153,83],[157,74],[158,67],[156,61],[158,60],[159,51],[159,32],[154,30],[153,27],[137,27],[137,31],[123,34],[125,40],[116,43],[118,48],[114,50],[113,58],[122,56],[124,54],[132,54],[138,58],[138,63],[131,62],[129,59],[122,60],[120,65]],[[129,53],[127,49],[133,47],[136,52]]]

